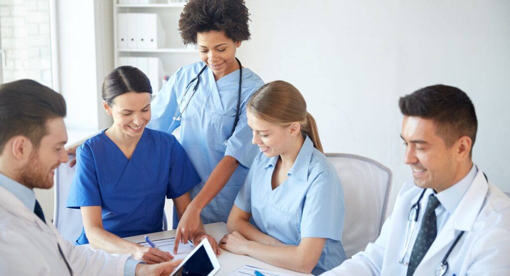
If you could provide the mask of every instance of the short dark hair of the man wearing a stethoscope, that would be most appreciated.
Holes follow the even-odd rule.
[[[464,91],[445,85],[428,86],[401,97],[398,105],[404,116],[432,119],[448,147],[464,135],[474,145],[478,121],[473,102]]]

